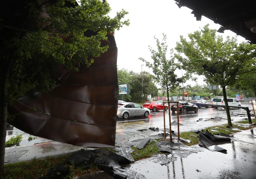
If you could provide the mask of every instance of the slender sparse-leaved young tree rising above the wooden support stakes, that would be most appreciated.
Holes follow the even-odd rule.
[[[167,59],[166,53],[168,52],[168,45],[166,45],[166,34],[163,34],[163,41],[160,42],[155,36],[157,50],[154,50],[149,46],[151,52],[151,59],[153,63],[148,62],[143,58],[139,58],[146,63],[146,66],[153,70],[155,74],[156,81],[166,90],[167,98],[169,101],[169,91],[174,90],[178,86],[178,81],[176,81],[177,75],[174,71],[177,69],[178,65],[174,62],[173,50],[170,50],[170,59]]]

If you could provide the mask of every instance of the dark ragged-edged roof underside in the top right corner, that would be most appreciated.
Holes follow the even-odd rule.
[[[256,0],[175,0],[179,7],[192,10],[196,20],[201,16],[256,44]],[[251,31],[254,31],[254,33]]]

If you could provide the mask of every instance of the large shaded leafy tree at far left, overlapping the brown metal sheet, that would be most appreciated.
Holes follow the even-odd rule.
[[[81,0],[2,2],[0,19],[0,174],[3,174],[7,106],[18,96],[37,89],[52,89],[52,74],[62,65],[78,70],[78,63],[89,66],[93,58],[107,51],[101,46],[107,32],[128,25],[128,13],[107,14],[106,1]],[[85,36],[85,34],[89,34]]]

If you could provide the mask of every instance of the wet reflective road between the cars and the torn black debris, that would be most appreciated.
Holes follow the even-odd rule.
[[[250,107],[249,105],[247,105]],[[231,108],[230,114],[244,114],[244,118],[247,118],[246,110]],[[195,112],[187,112],[187,114],[179,113],[179,122],[180,122],[180,129],[183,131],[191,131],[196,130],[194,129],[194,124],[196,124],[197,129],[202,129],[209,126],[220,125],[220,124],[227,124],[227,120],[222,120],[218,122],[197,122],[199,118],[214,118],[214,117],[221,117],[223,119],[227,119],[226,112],[223,108],[200,108],[197,113]],[[241,117],[232,116],[231,119],[241,119]],[[171,122],[173,120],[177,121],[177,113],[171,112]],[[165,113],[165,126],[169,128],[169,115],[168,112]],[[122,118],[118,119],[116,130],[117,133],[123,131],[132,131],[138,129],[144,129],[149,127],[158,127],[164,128],[164,118],[163,118],[163,110],[159,110],[157,112],[151,112],[148,118],[142,117],[130,117],[128,120],[124,120]],[[177,132],[177,127],[173,126],[171,128],[173,131]],[[180,131],[182,132],[182,131]]]

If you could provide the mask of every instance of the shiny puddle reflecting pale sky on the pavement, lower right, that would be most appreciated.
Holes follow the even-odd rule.
[[[145,178],[249,179],[256,177],[255,145],[232,142],[220,147],[227,149],[227,154],[204,149],[204,152],[192,153],[187,158],[178,157],[177,160],[166,165],[148,160],[138,161],[131,165],[130,170],[142,174]],[[132,177],[128,176],[128,178]]]

